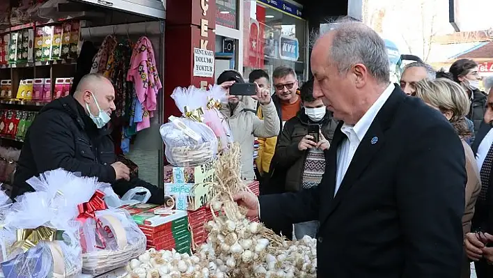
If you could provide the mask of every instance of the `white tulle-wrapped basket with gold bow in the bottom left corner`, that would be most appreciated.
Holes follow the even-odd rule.
[[[47,192],[16,199],[0,231],[5,277],[77,277],[82,268],[79,224],[54,208]]]

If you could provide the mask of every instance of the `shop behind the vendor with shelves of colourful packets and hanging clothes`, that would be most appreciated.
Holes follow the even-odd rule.
[[[132,59],[133,46],[146,37],[154,51],[157,74],[164,82],[165,3],[157,0],[34,2],[32,6],[14,6],[12,15],[18,16],[0,23],[0,127],[8,127],[0,130],[1,148],[22,148],[25,135],[22,130],[26,130],[33,116],[48,102],[68,95],[81,68],[88,68],[107,75],[116,87],[116,103],[119,103],[113,116],[116,153],[139,166],[140,178],[162,184],[159,176],[162,176],[163,147],[159,136],[155,136],[162,124],[162,90],[157,93],[156,109],[150,111],[153,114],[150,125],[130,131],[129,114],[134,110],[128,101],[125,104],[125,99],[132,100],[132,92],[125,89],[130,84],[125,78],[129,68],[124,64]],[[93,56],[104,46],[107,50],[99,53],[107,60],[100,61],[95,68]],[[107,63],[115,52],[121,55],[114,58],[116,63]],[[10,161],[10,157],[3,158]],[[8,179],[5,176],[1,181]]]

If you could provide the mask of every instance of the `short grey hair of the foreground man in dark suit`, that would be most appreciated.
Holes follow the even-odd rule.
[[[389,56],[385,42],[377,32],[361,22],[343,18],[332,22],[327,31],[334,31],[330,61],[341,74],[362,63],[380,83],[390,82]],[[318,37],[322,36],[320,34]]]

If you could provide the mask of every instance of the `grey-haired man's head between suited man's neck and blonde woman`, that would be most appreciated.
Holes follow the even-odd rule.
[[[435,77],[436,72],[431,65],[421,62],[409,63],[404,67],[400,77],[400,88],[407,95],[414,95],[416,93],[416,82],[423,79],[433,80]]]

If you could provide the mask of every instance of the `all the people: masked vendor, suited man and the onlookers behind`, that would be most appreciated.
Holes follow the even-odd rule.
[[[237,70],[217,78],[221,113],[242,151],[242,179],[260,196],[235,201],[290,239],[318,239],[320,277],[493,277],[493,79],[461,59],[448,72],[422,62],[389,79],[384,40],[357,22],[321,34],[313,77],[253,70],[256,95],[233,95]],[[271,84],[273,88],[271,88]],[[274,94],[271,91],[274,91]],[[489,91],[489,93],[488,93]],[[42,109],[26,134],[11,196],[31,176],[63,168],[164,193],[116,161],[107,123],[114,88],[90,74]],[[256,150],[258,148],[258,150]]]

